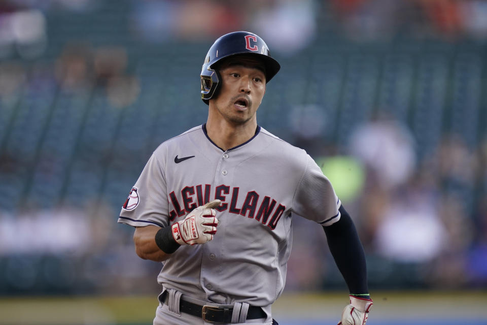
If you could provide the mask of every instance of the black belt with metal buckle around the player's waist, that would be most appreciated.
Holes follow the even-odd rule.
[[[161,296],[161,302],[168,305],[169,295],[167,291]],[[179,311],[190,314],[196,317],[203,318],[204,321],[210,322],[220,322],[220,323],[231,323],[233,308],[223,308],[210,305],[198,305],[193,304],[183,299],[180,300]],[[266,318],[267,314],[265,311],[257,306],[249,306],[249,311],[247,312],[247,319],[258,319]]]

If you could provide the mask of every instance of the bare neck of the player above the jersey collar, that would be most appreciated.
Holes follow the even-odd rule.
[[[252,139],[257,129],[257,121],[250,120],[242,125],[232,125],[225,120],[206,122],[206,133],[223,150],[228,150]]]

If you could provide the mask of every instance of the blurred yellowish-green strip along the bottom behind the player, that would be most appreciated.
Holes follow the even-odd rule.
[[[380,291],[373,293],[374,306],[367,323],[400,320],[448,324],[487,322],[486,291]],[[347,303],[343,293],[284,294],[273,305],[273,316],[282,325],[306,322],[336,324]],[[32,297],[0,298],[3,325],[150,325],[156,297]],[[481,322],[482,324],[485,322]]]

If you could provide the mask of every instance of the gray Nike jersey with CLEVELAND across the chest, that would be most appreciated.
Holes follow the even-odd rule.
[[[281,295],[292,215],[325,226],[340,218],[331,183],[304,150],[258,127],[223,151],[200,125],[154,151],[118,222],[165,227],[214,199],[222,201],[214,239],[178,248],[158,282],[220,304],[269,306]]]

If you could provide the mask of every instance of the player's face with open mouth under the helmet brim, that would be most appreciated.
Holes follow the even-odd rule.
[[[265,93],[262,63],[251,58],[230,58],[222,64],[219,72],[221,89],[210,105],[234,125],[255,119]]]

